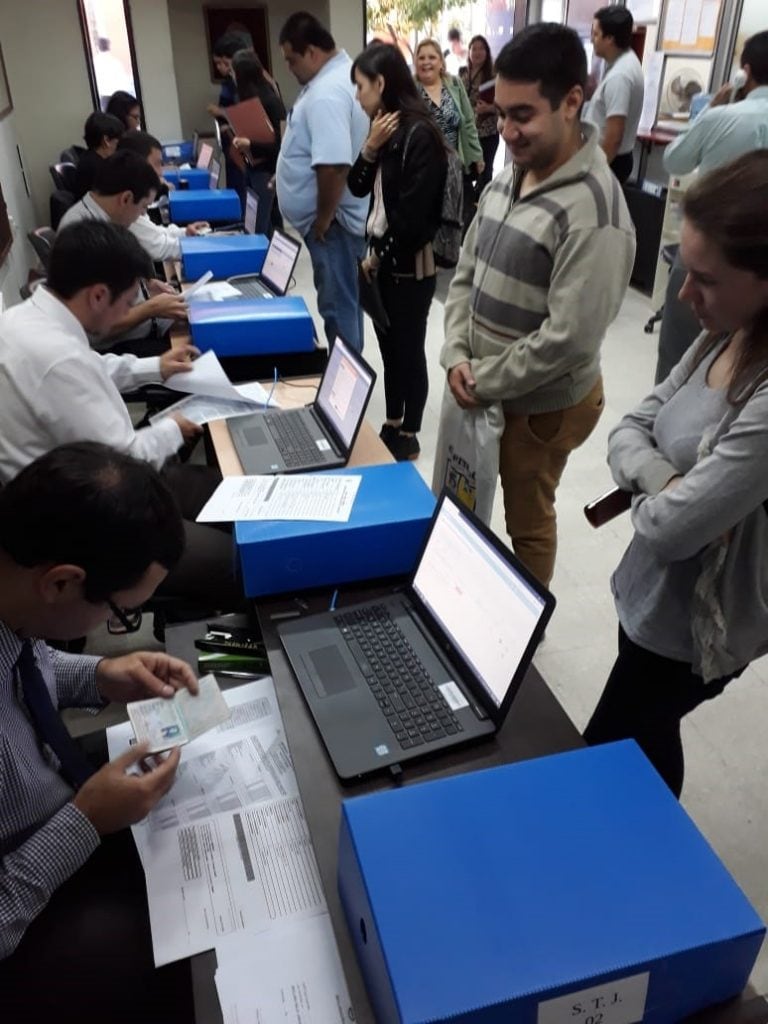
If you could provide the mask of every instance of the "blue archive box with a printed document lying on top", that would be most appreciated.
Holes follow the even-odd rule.
[[[362,477],[349,522],[238,522],[247,597],[399,575],[416,564],[434,496],[411,463],[334,469]]]

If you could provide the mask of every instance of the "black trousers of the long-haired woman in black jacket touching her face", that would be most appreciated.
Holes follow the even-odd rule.
[[[378,281],[389,316],[388,330],[374,325],[384,362],[387,419],[402,419],[401,429],[417,434],[429,393],[424,346],[435,279],[396,278],[383,269]]]

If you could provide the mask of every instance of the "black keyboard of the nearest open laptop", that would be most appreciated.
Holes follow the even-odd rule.
[[[463,732],[383,604],[340,613],[334,622],[400,746],[409,750]]]

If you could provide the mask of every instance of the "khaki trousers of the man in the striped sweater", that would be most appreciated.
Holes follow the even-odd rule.
[[[499,473],[512,549],[545,586],[555,570],[557,517],[555,490],[573,449],[583,444],[603,411],[598,378],[578,404],[556,413],[507,416]]]

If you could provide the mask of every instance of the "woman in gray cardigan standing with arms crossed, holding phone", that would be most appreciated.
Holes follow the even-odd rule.
[[[585,731],[634,738],[680,796],[680,721],[768,651],[768,152],[683,201],[680,298],[705,333],[608,438],[635,536],[618,657]]]

